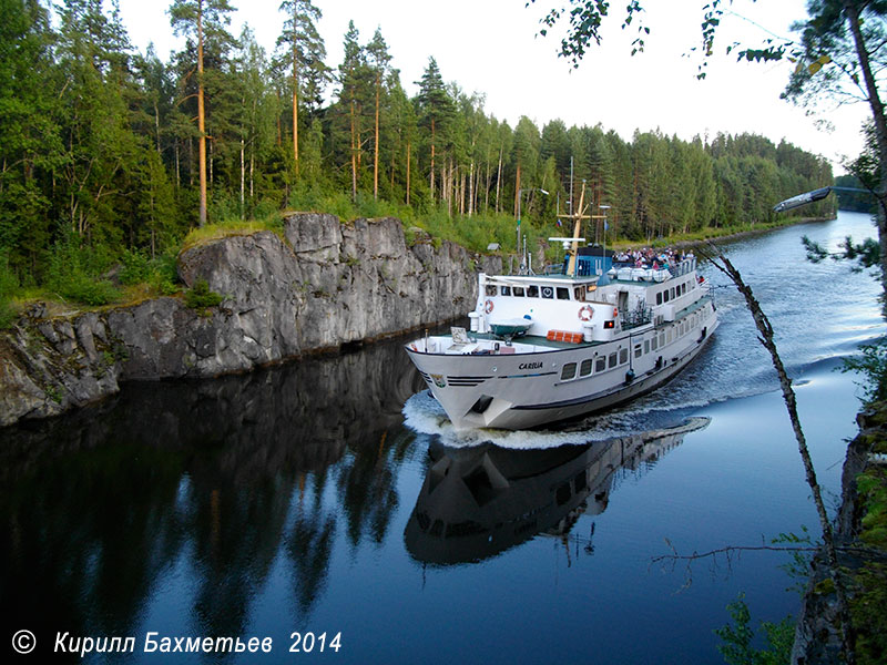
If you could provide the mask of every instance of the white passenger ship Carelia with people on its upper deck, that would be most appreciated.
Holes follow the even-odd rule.
[[[711,338],[715,304],[695,257],[618,267],[579,239],[561,275],[481,273],[470,331],[406,345],[457,429],[528,429],[631,400]]]

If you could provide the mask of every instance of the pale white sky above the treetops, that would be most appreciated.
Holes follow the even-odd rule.
[[[244,22],[268,52],[275,48],[284,17],[279,0],[230,0],[232,32]],[[789,25],[806,16],[805,0],[734,0],[720,27],[716,57],[704,81],[695,78],[699,59],[687,57],[701,41],[701,8],[705,0],[646,0],[650,28],[643,53],[631,57],[633,29],[623,31],[623,2],[611,2],[601,47],[592,47],[579,69],[557,53],[559,37],[539,34],[540,19],[563,0],[315,0],[323,12],[318,29],[327,64],[341,61],[341,42],[354,20],[366,43],[381,30],[391,65],[412,95],[428,65],[437,60],[447,82],[466,93],[485,95],[485,108],[514,126],[521,115],[542,126],[560,119],[570,125],[615,130],[631,140],[635,130],[659,130],[683,140],[713,137],[718,132],[763,134],[786,141],[829,160],[843,173],[845,157],[861,151],[859,133],[865,103],[836,106],[826,102],[814,115],[779,99],[794,65],[736,62],[723,55],[726,44],[758,45],[767,37],[789,37]],[[120,0],[123,22],[133,44],[144,51],[153,42],[166,59],[182,40],[172,34],[164,0]],[[830,123],[833,129],[823,126]]]

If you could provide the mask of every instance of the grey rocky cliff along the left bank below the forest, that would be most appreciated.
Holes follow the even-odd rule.
[[[396,335],[465,315],[477,272],[497,258],[430,238],[407,245],[395,218],[343,224],[299,213],[272,232],[182,253],[182,280],[224,296],[197,311],[157,298],[48,317],[32,307],[0,336],[0,424],[101,399],[125,380],[214,377]]]

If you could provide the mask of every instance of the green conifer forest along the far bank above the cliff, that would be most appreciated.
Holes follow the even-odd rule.
[[[62,293],[120,262],[174,256],[201,219],[201,81],[211,224],[282,209],[394,214],[443,235],[477,228],[465,238],[475,248],[504,245],[519,197],[528,224],[559,235],[572,164],[592,209],[611,206],[608,239],[641,243],[771,222],[776,202],[833,182],[822,157],[757,135],[625,141],[594,124],[593,108],[584,126],[510,126],[482,94],[446,83],[434,58],[410,96],[379,30],[364,39],[351,25],[343,62],[326,62],[307,0],[284,0],[279,39],[266,45],[248,29],[230,32],[227,0],[175,0],[170,30],[186,41],[166,62],[133,49],[113,3],[62,0],[51,11],[0,0],[7,285]]]

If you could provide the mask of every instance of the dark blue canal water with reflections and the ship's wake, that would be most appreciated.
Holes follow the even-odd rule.
[[[884,327],[875,280],[805,263],[799,237],[871,233],[842,214],[728,245],[833,502],[859,405],[834,370]],[[817,522],[769,359],[735,290],[717,296],[677,379],[557,430],[457,437],[400,344],[0,430],[3,659],[29,630],[22,661],[80,661],[52,654],[67,633],[68,651],[134,637],[90,663],[721,663],[712,631],[740,593],[755,623],[797,612],[787,559],[651,559]],[[271,651],[145,653],[150,633]]]

